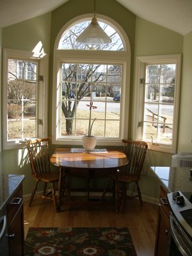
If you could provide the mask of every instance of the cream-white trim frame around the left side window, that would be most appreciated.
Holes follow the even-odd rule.
[[[14,49],[3,49],[3,150],[13,149],[13,148],[23,148],[26,146],[25,143],[19,143],[19,141],[8,141],[7,140],[7,72],[8,72],[8,59],[16,58],[24,60],[40,60],[40,75],[44,76],[44,81],[40,81],[39,95],[38,95],[38,118],[43,121],[43,125],[38,125],[38,137],[47,136],[47,122],[48,122],[48,70],[49,70],[49,56],[44,54],[44,56],[38,57],[36,52],[19,51]]]

